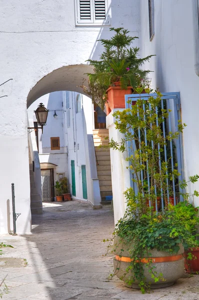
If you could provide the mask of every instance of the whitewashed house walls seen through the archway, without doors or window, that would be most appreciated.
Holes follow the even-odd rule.
[[[66,113],[66,93],[69,97],[68,123],[68,115]],[[81,99],[81,109],[79,112],[76,111],[77,95],[79,95]],[[36,120],[34,110],[40,102],[42,102],[49,110],[46,125],[43,127],[43,134],[41,134],[41,130],[38,129],[40,163],[48,162],[55,164],[56,166],[53,167],[54,180],[58,180],[58,173],[64,173],[68,178],[70,193],[72,193],[70,162],[71,160],[74,160],[76,196],[73,196],[73,198],[84,201],[88,200],[94,205],[90,168],[96,168],[96,166],[90,164],[87,144],[87,134],[92,134],[93,127],[93,104],[91,99],[77,92],[52,92],[38,98],[29,106],[27,109],[29,119]],[[55,117],[53,116],[54,110],[57,114]],[[52,136],[59,136],[60,150],[51,150],[50,137]],[[93,147],[93,144],[91,146]],[[83,199],[82,194],[81,165],[86,166],[87,199]],[[97,204],[99,203],[100,199]]]

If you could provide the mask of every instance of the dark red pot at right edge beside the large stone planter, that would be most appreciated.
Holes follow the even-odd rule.
[[[191,252],[192,259],[188,259],[188,252]],[[199,247],[189,248],[185,254],[184,267],[187,273],[199,272]]]

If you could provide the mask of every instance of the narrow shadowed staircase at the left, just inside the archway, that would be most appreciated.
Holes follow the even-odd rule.
[[[31,214],[42,214],[42,200],[40,194],[37,192],[34,182],[34,173],[32,171],[32,161],[29,152],[29,179],[30,179],[30,209]]]

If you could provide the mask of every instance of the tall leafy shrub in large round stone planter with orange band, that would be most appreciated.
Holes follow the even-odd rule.
[[[142,89],[137,88],[136,92],[141,93]],[[167,161],[159,163],[160,149],[168,140],[178,138],[185,124],[179,122],[176,132],[163,136],[161,123],[170,111],[163,108],[158,114],[156,107],[160,101],[161,93],[157,91],[155,97],[139,99],[136,105],[129,101],[129,108],[115,111],[115,128],[124,137],[121,142],[113,139],[109,142],[111,148],[121,152],[126,151],[128,143],[131,153],[126,160],[134,184],[134,188],[124,192],[127,209],[111,239],[114,241],[111,248],[115,254],[114,274],[128,287],[140,288],[142,292],[149,287],[169,286],[180,278],[184,270],[184,249],[194,243],[194,236],[183,218],[179,218],[168,201],[168,179],[179,176],[177,166],[170,172]],[[189,181],[194,183],[198,178],[198,175],[190,176]],[[181,188],[186,184],[179,182]],[[160,212],[154,210],[157,190],[161,191],[164,202]],[[193,195],[198,196],[198,192],[194,191]],[[189,195],[183,193],[183,196]]]

